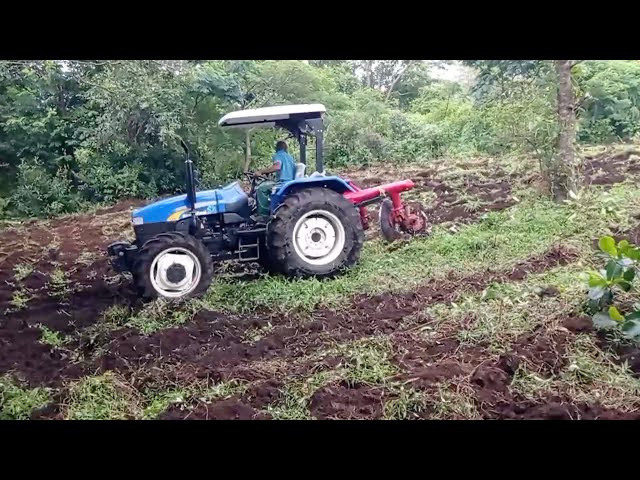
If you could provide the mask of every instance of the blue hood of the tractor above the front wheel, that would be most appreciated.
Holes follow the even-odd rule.
[[[239,182],[223,188],[196,193],[196,215],[210,215],[236,211],[248,202],[247,194]],[[134,210],[131,214],[135,225],[176,222],[189,214],[187,195],[177,195]]]

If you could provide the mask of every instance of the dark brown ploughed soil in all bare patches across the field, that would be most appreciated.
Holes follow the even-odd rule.
[[[620,181],[617,176],[640,170],[637,167],[630,154],[620,162],[598,157],[587,163],[587,175],[591,183],[615,183]],[[351,177],[363,187],[384,183],[370,172],[351,172]],[[412,193],[432,199],[426,207],[433,224],[472,222],[517,202],[509,175],[500,170],[486,171],[482,177],[469,174],[455,185],[433,170],[412,171],[410,177],[417,185]],[[502,355],[482,345],[462,346],[455,332],[427,339],[406,325],[408,317],[427,305],[448,304],[462,293],[480,292],[493,283],[518,282],[531,273],[574,261],[576,254],[559,245],[504,271],[434,280],[402,295],[356,296],[339,312],[319,309],[300,318],[202,310],[181,327],[151,335],[121,328],[90,340],[87,329],[101,321],[107,308],[140,307],[130,282],[112,272],[104,256],[108,243],[129,233],[129,212],[135,204],[0,230],[0,375],[8,374],[29,387],[60,389],[53,403],[34,417],[63,417],[61,404],[69,382],[113,371],[139,391],[194,381],[233,380],[248,385],[227,398],[192,398],[186,404],[171,405],[160,415],[162,419],[269,419],[270,406],[283,400],[288,382],[343,364],[339,355],[313,359],[314,355],[339,343],[384,335],[394,345],[391,362],[400,372],[395,380],[426,392],[426,398],[440,392],[442,385],[455,389],[464,381],[479,418],[639,418],[569,397],[532,400],[511,390],[522,366],[542,377],[566,368],[567,344],[576,335],[594,335],[589,319],[574,316],[564,319],[562,328],[540,328],[522,335]],[[375,220],[372,231],[377,231]],[[20,296],[28,298],[26,303],[16,301]],[[58,348],[42,343],[44,327],[62,334],[66,343]],[[248,339],[247,332],[256,329],[266,333],[255,341]],[[640,371],[637,349],[619,354],[621,361]],[[310,392],[308,409],[319,419],[376,419],[384,415],[385,402],[397,395],[376,385],[329,381]],[[428,401],[416,413],[417,418],[437,415]]]

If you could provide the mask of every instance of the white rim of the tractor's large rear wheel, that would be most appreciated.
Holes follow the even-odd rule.
[[[344,249],[344,225],[331,212],[312,210],[304,214],[293,227],[293,248],[311,265],[328,265]]]

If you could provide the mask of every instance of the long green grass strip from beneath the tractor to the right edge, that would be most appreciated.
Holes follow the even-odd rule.
[[[231,312],[259,308],[310,312],[319,305],[339,308],[357,293],[407,291],[429,278],[506,268],[543,253],[559,241],[588,249],[590,239],[606,233],[612,222],[631,225],[631,214],[640,206],[640,189],[631,185],[615,187],[606,196],[593,194],[580,208],[556,205],[526,190],[518,195],[520,203],[516,206],[489,213],[455,234],[434,228],[429,238],[414,239],[400,248],[368,242],[361,262],[336,279],[294,281],[267,276],[250,283],[221,279],[210,288],[203,303],[214,310]],[[615,218],[601,214],[603,203],[609,199],[614,199],[621,212]]]

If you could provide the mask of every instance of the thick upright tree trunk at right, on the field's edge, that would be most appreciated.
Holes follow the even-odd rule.
[[[558,133],[557,151],[550,165],[551,193],[556,202],[567,199],[569,192],[576,191],[576,112],[571,68],[573,60],[554,60],[558,75]]]

